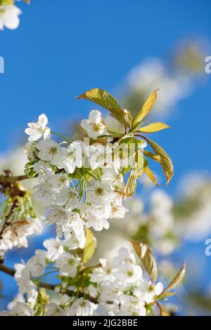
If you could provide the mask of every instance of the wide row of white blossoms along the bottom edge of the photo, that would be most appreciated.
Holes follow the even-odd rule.
[[[46,239],[44,246],[46,250],[36,250],[27,263],[15,265],[20,293],[10,303],[8,315],[89,316],[99,309],[105,315],[145,316],[163,291],[161,282],[154,284],[143,278],[134,253],[127,249],[120,249],[110,265],[101,259],[94,269],[84,269],[82,258],[75,254],[76,239]],[[53,298],[45,294],[41,301],[40,279],[52,269],[59,272],[60,282],[54,287]],[[27,303],[23,294],[27,294]]]

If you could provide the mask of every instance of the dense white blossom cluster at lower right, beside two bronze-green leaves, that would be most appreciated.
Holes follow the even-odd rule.
[[[161,282],[154,284],[143,277],[134,253],[120,249],[118,256],[108,264],[101,259],[101,268],[91,274],[91,282],[97,283],[99,301],[109,315],[145,316],[150,312],[156,297],[162,293]]]

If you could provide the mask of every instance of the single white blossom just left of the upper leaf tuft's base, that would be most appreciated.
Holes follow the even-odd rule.
[[[89,119],[83,119],[81,122],[82,128],[87,131],[90,138],[97,138],[106,134],[106,125],[103,124],[101,112],[92,110],[89,114]]]

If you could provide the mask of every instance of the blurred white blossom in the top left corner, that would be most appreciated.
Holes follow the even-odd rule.
[[[21,13],[22,11],[14,5],[0,6],[0,29],[4,29],[4,26],[8,29],[17,29]]]

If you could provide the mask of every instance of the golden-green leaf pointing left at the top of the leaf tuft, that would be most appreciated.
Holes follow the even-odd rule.
[[[107,91],[104,91],[100,88],[93,88],[83,93],[78,98],[85,98],[86,100],[101,105],[101,107],[105,107],[107,110],[110,111],[112,117],[120,121],[120,123],[124,126],[131,128],[132,115],[128,110],[123,110],[117,100]]]

